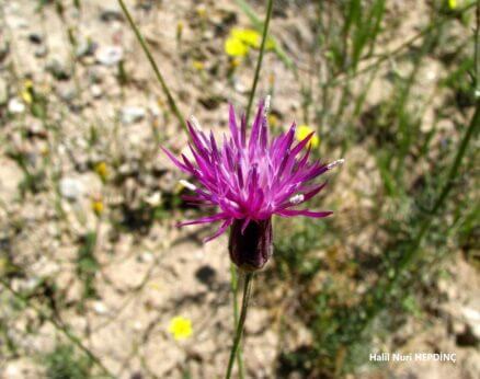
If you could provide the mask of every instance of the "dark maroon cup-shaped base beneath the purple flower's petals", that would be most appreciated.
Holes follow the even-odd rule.
[[[243,230],[244,220],[235,220],[230,228],[228,251],[231,261],[244,272],[261,269],[273,253],[272,219],[250,221]]]

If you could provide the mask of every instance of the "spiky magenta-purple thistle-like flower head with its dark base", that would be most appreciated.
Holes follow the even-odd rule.
[[[192,118],[187,126],[194,162],[184,154],[180,161],[163,149],[178,168],[201,184],[197,186],[182,180],[181,183],[195,193],[184,196],[184,199],[219,208],[214,215],[184,221],[180,226],[221,221],[220,228],[206,241],[231,227],[230,257],[244,271],[262,268],[272,255],[273,215],[322,218],[332,214],[297,207],[325,186],[327,183],[312,184],[316,177],[343,163],[343,160],[330,164],[308,162],[313,133],[294,146],[295,123],[287,133],[270,139],[267,107],[263,102],[259,105],[248,138],[245,117],[241,117],[239,127],[230,105],[230,136],[224,135],[221,146],[212,131],[207,136]]]

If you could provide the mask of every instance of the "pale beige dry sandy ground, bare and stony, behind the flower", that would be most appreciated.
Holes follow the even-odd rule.
[[[127,3],[133,8],[133,2]],[[135,15],[180,99],[181,108],[185,114],[195,114],[202,124],[225,130],[226,102],[244,106],[252,67],[239,67],[232,84],[226,79],[216,80],[210,73],[225,77],[228,69],[222,55],[225,36],[231,25],[247,26],[248,20],[233,1],[160,1],[152,10],[149,7],[153,2],[138,3],[145,8],[137,9]],[[186,137],[179,136],[172,126],[165,127],[174,123],[171,117],[165,118],[164,99],[116,1],[82,1],[81,14],[69,5],[65,21],[57,16],[52,4],[43,13],[36,11],[36,4],[27,0],[1,2],[1,37],[11,38],[11,50],[7,60],[0,62],[0,91],[8,88],[11,105],[12,99],[19,99],[23,79],[30,77],[35,87],[50,97],[49,117],[61,127],[56,134],[47,133],[45,125],[22,111],[0,128],[0,237],[2,249],[26,273],[25,277],[14,278],[12,285],[34,290],[43,280],[55,284],[64,305],[57,317],[70,325],[118,378],[181,378],[186,368],[192,378],[221,377],[232,331],[226,238],[203,245],[202,237],[210,230],[178,230],[176,219],[185,217],[179,213],[155,222],[150,229],[122,233],[108,221],[123,203],[155,200],[156,196],[161,197],[176,187],[180,176],[165,172],[172,165],[159,154],[152,125],[161,131],[160,140],[172,148],[181,149]],[[400,2],[391,5],[408,12],[407,5]],[[418,7],[416,11],[421,11],[423,2]],[[204,12],[207,12],[205,19]],[[311,38],[308,28],[298,22],[298,18],[307,18],[309,7],[302,8],[297,18],[290,10],[286,12],[287,18],[274,19],[273,31]],[[410,14],[407,13],[408,22],[399,31],[399,37],[412,33],[410,23],[421,22],[412,21]],[[179,22],[183,23],[180,46],[175,37]],[[75,72],[70,71],[71,55],[80,53],[72,51],[68,43],[69,27],[77,35],[78,49],[84,48],[89,39],[96,45],[92,55],[79,58],[81,64],[76,66]],[[301,46],[296,48],[295,42],[288,41],[289,34],[285,34],[292,54],[301,60]],[[33,35],[38,36],[39,42]],[[116,54],[125,59],[129,81],[124,87],[118,85],[117,66],[108,65],[108,59],[115,60]],[[196,60],[204,62],[202,72],[193,65]],[[428,68],[431,76],[425,76],[426,80],[438,72],[435,61]],[[69,79],[54,80],[53,70],[66,71]],[[273,106],[281,120],[301,119],[299,96],[295,95],[299,93],[300,83],[275,56],[267,55],[259,94],[270,92],[272,82],[275,84]],[[389,90],[386,83],[376,83],[374,88],[368,100],[372,105]],[[0,92],[0,96],[4,92]],[[92,149],[89,148],[91,126],[100,136]],[[25,130],[31,137],[24,138],[22,131]],[[24,174],[11,158],[12,149],[24,152],[33,168],[41,166],[44,157],[49,157],[44,187],[35,194],[27,193],[24,199],[18,191]],[[335,151],[330,156],[340,158]],[[345,170],[339,181],[348,182],[358,191],[365,180],[376,185],[378,175],[365,163],[365,151],[353,150],[347,158],[353,168],[361,165],[364,172],[352,170],[357,174],[352,177],[352,171]],[[91,166],[102,161],[122,162],[118,170],[124,180],[119,185],[102,184],[92,172]],[[59,182],[56,175],[61,177]],[[65,179],[67,183],[61,182]],[[56,188],[61,187],[61,183],[67,188],[58,194]],[[106,210],[99,227],[91,202],[100,196]],[[368,203],[357,202],[358,195],[354,192],[339,192],[330,200],[343,202],[343,209],[350,209],[350,215],[355,211],[352,204],[357,204],[356,208],[358,204],[368,207]],[[190,211],[188,215],[192,216]],[[79,241],[93,230],[100,232],[94,249],[101,267],[95,276],[99,297],[87,300],[80,310],[82,284],[76,275],[76,260]],[[458,363],[392,364],[380,370],[366,365],[358,378],[478,378],[478,349],[459,347],[456,341],[458,335],[469,333],[468,328],[479,328],[480,321],[475,319],[480,314],[476,291],[480,288],[478,274],[459,259],[452,275],[453,278],[443,284],[446,300],[438,311],[441,318],[426,330],[419,330],[423,324],[409,324],[410,330],[402,333],[412,336],[404,345],[405,352],[456,352]],[[260,275],[256,291],[261,290]],[[0,292],[0,296],[1,320],[8,324],[9,337],[19,353],[18,356],[0,355],[0,377],[42,378],[45,374],[37,357],[52,351],[60,335],[52,324],[39,321],[34,311],[19,312],[4,306],[8,295]],[[466,313],[466,308],[472,311]],[[468,314],[473,320],[468,320]],[[175,315],[192,320],[190,338],[178,342],[168,332],[169,322]],[[284,346],[278,346],[277,331],[268,328],[272,319],[270,310],[254,300],[245,333],[249,378],[275,376],[272,370],[276,354]],[[289,347],[302,338],[308,340],[308,335],[301,336],[304,332],[298,332],[300,336],[293,338]],[[0,345],[0,348],[3,347]]]

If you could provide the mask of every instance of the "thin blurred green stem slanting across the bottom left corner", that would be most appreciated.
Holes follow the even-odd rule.
[[[56,330],[64,333],[64,335],[70,340],[71,343],[73,343],[78,348],[80,348],[83,353],[88,355],[88,357],[100,367],[100,369],[103,371],[103,374],[107,378],[115,378],[115,376],[110,372],[110,370],[102,364],[102,361],[85,346],[82,344],[80,338],[76,336],[73,333],[71,333],[66,325],[64,325],[60,321],[54,319],[52,315],[47,314],[44,310],[42,310],[39,307],[31,303],[28,299],[22,296],[22,294],[14,290],[10,284],[4,280],[3,278],[0,278],[0,284],[5,288],[9,292],[11,292],[15,298],[18,298],[20,301],[25,303],[28,308],[33,309],[42,319],[48,320]]]

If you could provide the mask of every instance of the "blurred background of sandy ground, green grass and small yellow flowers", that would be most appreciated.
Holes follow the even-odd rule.
[[[221,378],[227,237],[178,229],[179,118],[243,112],[266,1],[0,1],[0,377]],[[272,133],[344,158],[276,219],[256,275],[247,378],[479,378],[476,2],[274,1],[254,103]],[[180,117],[179,117],[180,116]],[[373,353],[456,361],[374,361]],[[237,369],[236,371],[237,372]]]

